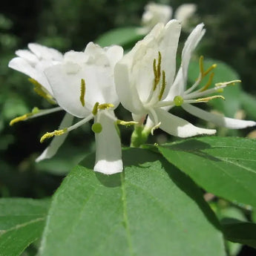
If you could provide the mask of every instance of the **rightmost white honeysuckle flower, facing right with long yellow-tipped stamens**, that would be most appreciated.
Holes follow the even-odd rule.
[[[234,80],[229,82],[219,82],[215,84],[214,88],[210,88],[211,82],[214,76],[214,73],[211,72],[216,65],[212,65],[207,70],[204,70],[203,67],[203,56],[200,57],[200,73],[199,76],[194,82],[194,85],[191,85],[190,88],[187,88],[187,80],[188,80],[188,65],[191,59],[191,54],[194,49],[197,47],[200,39],[202,39],[204,33],[206,32],[203,29],[203,24],[197,25],[194,30],[191,32],[190,36],[183,47],[182,53],[182,61],[180,65],[180,69],[177,73],[176,79],[174,80],[173,85],[171,86],[171,90],[168,93],[168,96],[165,98],[165,102],[163,102],[163,106],[166,106],[165,109],[171,109],[173,106],[181,106],[185,111],[189,114],[199,117],[200,119],[204,119],[208,122],[213,122],[217,126],[223,126],[231,129],[241,129],[246,127],[255,126],[256,122],[247,121],[242,119],[233,119],[229,117],[222,116],[220,114],[213,114],[208,111],[203,111],[200,108],[191,105],[197,102],[208,102],[211,99],[215,98],[223,98],[221,95],[212,95],[213,93],[221,93],[226,86],[234,85],[236,82],[240,82],[240,80]],[[208,82],[203,87],[199,87],[203,78],[209,76]]]

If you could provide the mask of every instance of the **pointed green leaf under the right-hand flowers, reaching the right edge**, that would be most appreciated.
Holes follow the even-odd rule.
[[[172,164],[212,194],[256,207],[256,141],[201,137],[159,146]]]

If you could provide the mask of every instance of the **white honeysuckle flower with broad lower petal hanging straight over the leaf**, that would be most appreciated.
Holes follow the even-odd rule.
[[[114,109],[119,105],[114,66],[122,59],[122,54],[122,47],[102,48],[91,42],[85,52],[69,51],[62,63],[45,69],[56,101],[65,111],[82,120],[45,134],[41,141],[66,134],[94,119],[96,163],[93,170],[104,174],[122,171],[121,142],[116,131],[116,123],[120,121],[114,115]]]

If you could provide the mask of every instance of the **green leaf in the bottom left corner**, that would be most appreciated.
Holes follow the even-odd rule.
[[[42,235],[49,200],[0,199],[0,255],[20,255]]]

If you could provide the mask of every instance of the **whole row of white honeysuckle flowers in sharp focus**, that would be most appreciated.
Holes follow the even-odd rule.
[[[214,74],[212,65],[205,70],[200,57],[200,72],[194,85],[188,88],[188,65],[191,54],[202,39],[203,24],[197,25],[183,47],[181,65],[176,72],[176,56],[181,24],[171,20],[158,23],[134,48],[123,56],[122,47],[99,47],[88,43],[85,51],[69,51],[62,55],[42,45],[29,44],[29,50],[17,50],[10,68],[30,76],[36,93],[50,103],[59,105],[47,110],[34,108],[31,113],[10,122],[30,119],[55,111],[65,111],[59,129],[47,132],[42,138],[54,137],[37,161],[52,157],[64,142],[68,132],[93,119],[96,140],[94,171],[114,174],[122,171],[121,142],[116,125],[135,125],[148,137],[157,128],[177,137],[215,134],[216,130],[199,128],[170,113],[180,106],[189,114],[227,128],[246,128],[256,122],[232,119],[211,114],[194,106],[221,98],[220,91],[238,80],[220,82],[210,88]],[[203,78],[208,82],[200,86]],[[119,102],[131,112],[133,121],[116,118]],[[73,124],[74,116],[80,118]],[[140,137],[140,136],[139,136]],[[140,139],[140,138],[139,138]],[[140,143],[138,143],[140,145]],[[136,143],[134,143],[136,145]]]

